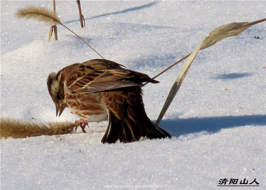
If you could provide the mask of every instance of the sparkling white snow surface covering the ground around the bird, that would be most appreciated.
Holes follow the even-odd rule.
[[[52,9],[52,1],[0,3],[1,117],[77,120],[69,110],[56,117],[46,78],[100,57],[61,25],[59,40],[46,41],[49,24],[14,17],[25,5]],[[264,18],[266,1],[81,1],[81,7],[85,28],[76,1],[56,1],[61,22],[103,57],[152,77],[214,28]],[[101,144],[107,122],[91,123],[88,133],[1,139],[1,189],[266,189],[265,29],[259,23],[199,52],[159,125],[171,139]],[[143,87],[151,120],[181,65]],[[256,178],[259,186],[217,186],[224,178],[238,185]]]

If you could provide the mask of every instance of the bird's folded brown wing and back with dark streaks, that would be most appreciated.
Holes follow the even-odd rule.
[[[110,91],[117,88],[142,86],[143,82],[157,83],[148,75],[121,67],[106,59],[93,59],[75,65],[68,75],[66,86],[72,94]]]

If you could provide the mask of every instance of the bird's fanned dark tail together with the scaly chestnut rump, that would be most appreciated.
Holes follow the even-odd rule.
[[[155,125],[147,116],[140,86],[120,91],[102,92],[108,107],[109,124],[102,143],[134,142],[141,137],[148,139],[171,138],[171,135]]]

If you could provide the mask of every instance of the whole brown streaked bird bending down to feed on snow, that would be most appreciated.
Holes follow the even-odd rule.
[[[68,107],[80,117],[82,131],[88,122],[108,120],[102,143],[133,142],[171,137],[148,117],[142,101],[142,83],[158,81],[106,59],[69,65],[47,79],[56,116]]]

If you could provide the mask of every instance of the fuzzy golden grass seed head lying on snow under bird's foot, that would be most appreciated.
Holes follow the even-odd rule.
[[[61,135],[73,133],[79,123],[71,122],[49,122],[47,124],[30,121],[14,120],[8,118],[0,119],[0,138],[25,138],[41,135]]]

